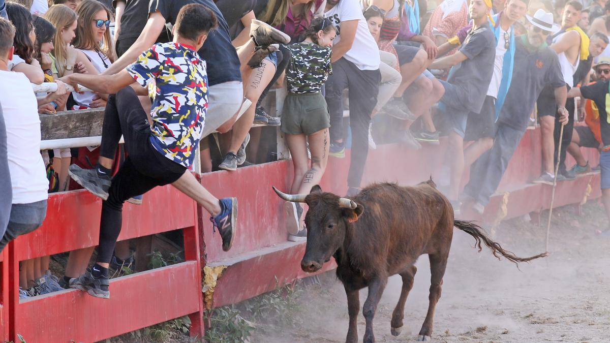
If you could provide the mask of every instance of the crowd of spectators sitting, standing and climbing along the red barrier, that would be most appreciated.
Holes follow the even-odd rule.
[[[190,4],[210,11],[209,27],[179,21],[188,22],[188,11],[181,10]],[[456,211],[483,214],[526,129],[539,123],[543,170],[533,182],[553,185],[601,170],[610,217],[610,2],[604,0],[0,0],[0,15],[0,171],[11,175],[0,181],[1,247],[41,225],[47,193],[76,185],[69,172],[104,198],[93,271],[84,278],[93,248],[72,251],[59,279],[49,272],[48,256],[23,261],[23,297],[84,289],[84,283],[95,283],[90,294],[108,297],[108,269],[133,260],[128,242],[115,246],[123,202],[142,203],[143,193],[162,184],[183,190],[191,180],[181,175],[196,151],[204,172],[248,165],[246,151],[256,154],[257,148],[248,148],[254,124],[278,126],[285,137],[295,194],[309,193],[329,156],[342,158],[346,148],[350,169],[341,186],[351,196],[363,186],[368,151],[379,142],[414,150],[447,136],[437,183]],[[162,45],[167,42],[186,48],[176,52]],[[186,62],[176,62],[176,54],[193,54],[190,77],[204,79],[198,79],[200,89],[182,88],[202,114],[186,128],[173,119],[181,113],[181,95],[162,93],[184,80],[151,67],[157,61],[180,70],[174,63]],[[91,90],[68,92],[61,80]],[[122,87],[134,81],[148,93],[137,85]],[[57,91],[34,94],[31,84],[42,82],[56,82]],[[262,104],[272,88],[282,87],[276,117]],[[38,114],[87,108],[106,110],[101,148],[39,151]],[[125,112],[146,115],[143,130],[160,141],[151,138],[151,145],[173,161],[163,176],[163,163],[148,174],[128,163],[141,157],[129,154],[129,143],[127,154],[117,151],[121,132],[132,145],[137,140],[127,134],[125,125],[135,124],[123,120],[132,115]],[[585,125],[574,125],[576,113]],[[380,128],[390,134],[380,135]],[[212,145],[220,161],[212,159]],[[600,151],[600,165],[589,165],[583,146]],[[576,161],[571,169],[566,153]],[[468,168],[470,181],[462,191]],[[97,183],[85,182],[89,177]],[[226,206],[236,211],[237,203],[220,200],[219,208],[207,191],[184,192],[213,214],[228,250],[232,234],[218,216],[230,217]],[[306,239],[304,209],[287,202],[284,210],[289,239]]]

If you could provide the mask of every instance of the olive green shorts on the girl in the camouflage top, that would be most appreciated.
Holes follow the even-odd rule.
[[[310,135],[330,127],[331,116],[322,93],[288,93],[282,109],[282,132]]]

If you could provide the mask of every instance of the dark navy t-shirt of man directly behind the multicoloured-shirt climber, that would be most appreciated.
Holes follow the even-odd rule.
[[[176,16],[184,5],[202,4],[208,7],[218,18],[218,27],[210,31],[206,42],[199,49],[207,63],[207,80],[210,86],[230,81],[242,81],[239,57],[229,38],[229,27],[216,4],[212,0],[151,0],[148,13],[161,12],[167,23],[174,25]]]

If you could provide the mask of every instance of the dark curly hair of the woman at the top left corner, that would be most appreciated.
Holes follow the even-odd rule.
[[[30,32],[34,29],[32,15],[24,5],[15,2],[6,3],[6,13],[15,26],[15,38],[13,38],[15,54],[30,64],[34,59],[34,42],[30,39]]]

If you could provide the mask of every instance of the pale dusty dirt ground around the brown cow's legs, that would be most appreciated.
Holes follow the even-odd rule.
[[[520,256],[544,251],[546,216],[542,226],[515,218],[501,223],[495,237]],[[598,236],[608,219],[597,201],[556,209],[551,220],[550,256],[530,264],[498,261],[473,239],[454,232],[442,297],[436,308],[434,342],[610,342],[610,237]],[[390,317],[398,301],[401,280],[390,278],[375,316],[377,342],[412,342],[428,308],[429,264],[417,262],[415,285],[407,298],[401,336],[390,334]],[[300,296],[296,327],[259,326],[251,342],[343,342],[348,315],[343,287],[327,273],[320,285]],[[366,290],[361,291],[361,305]],[[364,335],[364,317],[359,319]]]

